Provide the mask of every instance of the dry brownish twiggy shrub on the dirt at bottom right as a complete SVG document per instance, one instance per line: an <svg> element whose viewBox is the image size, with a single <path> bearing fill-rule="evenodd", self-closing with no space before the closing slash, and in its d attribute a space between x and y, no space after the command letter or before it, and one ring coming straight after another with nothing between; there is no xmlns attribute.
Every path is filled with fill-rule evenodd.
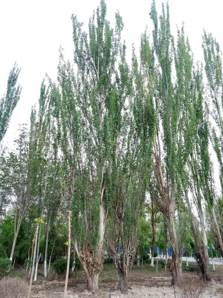
<svg viewBox="0 0 223 298"><path fill-rule="evenodd" d="M206 289L206 284L196 277L180 279L178 283L180 298L201 298Z"/></svg>

